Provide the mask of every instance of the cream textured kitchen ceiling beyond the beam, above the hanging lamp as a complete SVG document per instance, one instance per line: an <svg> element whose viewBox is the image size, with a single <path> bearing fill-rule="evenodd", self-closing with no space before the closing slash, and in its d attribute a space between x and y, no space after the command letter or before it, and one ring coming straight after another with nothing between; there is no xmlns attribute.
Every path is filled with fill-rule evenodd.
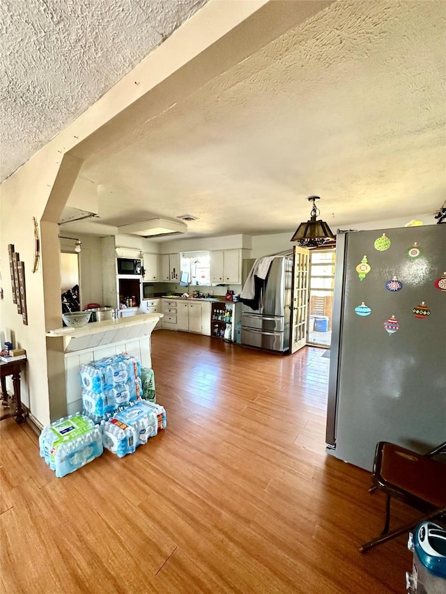
<svg viewBox="0 0 446 594"><path fill-rule="evenodd" d="M84 164L100 222L199 217L190 236L279 233L320 195L336 228L445 199L442 2L343 1Z"/></svg>

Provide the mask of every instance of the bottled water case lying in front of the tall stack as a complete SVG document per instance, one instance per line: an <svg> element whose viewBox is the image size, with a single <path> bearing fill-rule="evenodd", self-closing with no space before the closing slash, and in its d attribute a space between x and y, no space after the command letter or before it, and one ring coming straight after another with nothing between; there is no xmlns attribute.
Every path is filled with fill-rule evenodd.
<svg viewBox="0 0 446 594"><path fill-rule="evenodd" d="M132 453L127 448L137 448L141 444L146 444L149 437L154 437L158 432L157 414L151 406L151 402L139 400L121 412L114 414L113 418L102 424L102 440L104 447L114 453L118 453L118 447L121 445L121 455ZM134 433L132 445L129 445L130 428ZM127 443L126 437L127 436ZM119 455L119 454L118 454Z"/></svg>

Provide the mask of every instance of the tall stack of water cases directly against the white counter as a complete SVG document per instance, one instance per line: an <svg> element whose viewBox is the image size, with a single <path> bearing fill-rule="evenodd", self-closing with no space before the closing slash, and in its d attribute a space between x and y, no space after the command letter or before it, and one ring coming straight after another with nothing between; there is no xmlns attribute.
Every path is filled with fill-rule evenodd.
<svg viewBox="0 0 446 594"><path fill-rule="evenodd" d="M95 423L141 397L141 364L121 353L83 365L80 370L84 414Z"/></svg>

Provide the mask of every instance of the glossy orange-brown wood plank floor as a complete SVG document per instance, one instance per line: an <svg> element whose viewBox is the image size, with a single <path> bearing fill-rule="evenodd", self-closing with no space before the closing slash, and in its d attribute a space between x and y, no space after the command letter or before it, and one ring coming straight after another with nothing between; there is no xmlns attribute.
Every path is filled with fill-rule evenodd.
<svg viewBox="0 0 446 594"><path fill-rule="evenodd" d="M156 331L167 429L64 478L29 426L3 421L2 592L404 592L405 537L357 551L380 531L384 499L367 492L369 473L325 455L322 354Z"/></svg>

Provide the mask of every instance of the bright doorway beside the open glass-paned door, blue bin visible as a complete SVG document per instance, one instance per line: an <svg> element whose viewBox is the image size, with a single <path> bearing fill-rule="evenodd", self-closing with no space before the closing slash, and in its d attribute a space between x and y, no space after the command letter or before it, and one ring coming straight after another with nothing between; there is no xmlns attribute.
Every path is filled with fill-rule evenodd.
<svg viewBox="0 0 446 594"><path fill-rule="evenodd" d="M307 344L312 346L331 346L335 262L334 249L311 252Z"/></svg>

